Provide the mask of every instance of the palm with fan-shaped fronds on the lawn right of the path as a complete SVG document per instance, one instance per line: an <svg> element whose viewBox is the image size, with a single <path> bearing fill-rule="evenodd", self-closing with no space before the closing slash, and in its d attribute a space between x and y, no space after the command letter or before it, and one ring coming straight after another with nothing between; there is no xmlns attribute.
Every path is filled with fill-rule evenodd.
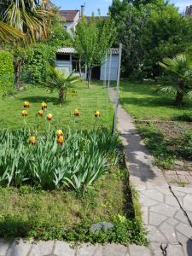
<svg viewBox="0 0 192 256"><path fill-rule="evenodd" d="M180 54L175 57L165 58L159 63L168 72L176 76L177 84L164 86L161 88L163 92L174 93L176 95L176 104L181 107L183 104L183 96L186 94L192 98L192 88L190 81L192 80L192 61L188 55Z"/></svg>

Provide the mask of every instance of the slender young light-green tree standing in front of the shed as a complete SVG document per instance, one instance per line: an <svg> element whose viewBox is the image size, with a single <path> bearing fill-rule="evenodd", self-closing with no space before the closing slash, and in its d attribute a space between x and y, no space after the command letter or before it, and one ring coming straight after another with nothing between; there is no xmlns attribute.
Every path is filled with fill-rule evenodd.
<svg viewBox="0 0 192 256"><path fill-rule="evenodd" d="M88 68L88 87L90 87L92 68L100 66L113 44L115 27L111 19L102 20L92 16L79 23L74 32L74 48Z"/></svg>

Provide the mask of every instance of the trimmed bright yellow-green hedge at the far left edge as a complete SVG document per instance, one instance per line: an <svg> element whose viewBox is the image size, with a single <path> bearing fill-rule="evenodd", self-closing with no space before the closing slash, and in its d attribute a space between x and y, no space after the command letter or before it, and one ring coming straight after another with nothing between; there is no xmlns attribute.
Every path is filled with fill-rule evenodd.
<svg viewBox="0 0 192 256"><path fill-rule="evenodd" d="M8 51L0 50L0 95L7 95L13 86L14 57Z"/></svg>

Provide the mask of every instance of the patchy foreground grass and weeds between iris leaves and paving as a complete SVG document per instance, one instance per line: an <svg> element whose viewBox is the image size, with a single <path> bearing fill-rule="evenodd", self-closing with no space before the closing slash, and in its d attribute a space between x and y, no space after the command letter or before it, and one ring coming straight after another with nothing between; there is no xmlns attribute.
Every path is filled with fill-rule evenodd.
<svg viewBox="0 0 192 256"><path fill-rule="evenodd" d="M29 186L1 187L0 237L147 244L141 219L131 217L134 209L126 172L113 167L85 194ZM112 222L113 229L91 232L91 224L101 221Z"/></svg>

